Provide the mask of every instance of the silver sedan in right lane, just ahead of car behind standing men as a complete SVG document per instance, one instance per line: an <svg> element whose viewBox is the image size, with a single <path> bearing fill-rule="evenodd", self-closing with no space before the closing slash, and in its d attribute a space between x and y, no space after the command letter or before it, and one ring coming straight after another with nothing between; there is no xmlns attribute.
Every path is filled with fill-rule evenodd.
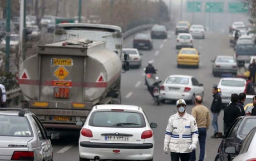
<svg viewBox="0 0 256 161"><path fill-rule="evenodd" d="M233 56L217 56L213 62L213 76L221 74L237 75L237 62Z"/></svg>

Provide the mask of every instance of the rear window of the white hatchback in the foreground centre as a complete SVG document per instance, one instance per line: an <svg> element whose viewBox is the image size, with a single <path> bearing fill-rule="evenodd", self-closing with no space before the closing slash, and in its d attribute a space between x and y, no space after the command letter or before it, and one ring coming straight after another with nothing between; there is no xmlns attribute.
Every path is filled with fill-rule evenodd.
<svg viewBox="0 0 256 161"><path fill-rule="evenodd" d="M124 111L93 112L89 125L93 127L142 128L146 126L142 113Z"/></svg>

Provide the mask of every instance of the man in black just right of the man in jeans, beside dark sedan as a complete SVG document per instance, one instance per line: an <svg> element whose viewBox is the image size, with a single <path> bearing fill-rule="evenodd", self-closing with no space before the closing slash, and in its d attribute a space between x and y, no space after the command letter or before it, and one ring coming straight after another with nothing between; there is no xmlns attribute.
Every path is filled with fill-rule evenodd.
<svg viewBox="0 0 256 161"><path fill-rule="evenodd" d="M237 105L238 94L231 94L231 103L224 108L224 135L227 133L230 125L234 122L235 119L242 115L240 107Z"/></svg>

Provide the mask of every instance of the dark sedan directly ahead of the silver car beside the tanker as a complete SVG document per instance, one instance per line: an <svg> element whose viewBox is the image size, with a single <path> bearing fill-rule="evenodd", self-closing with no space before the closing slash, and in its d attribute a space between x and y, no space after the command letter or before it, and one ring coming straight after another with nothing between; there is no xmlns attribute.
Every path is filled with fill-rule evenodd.
<svg viewBox="0 0 256 161"><path fill-rule="evenodd" d="M137 49L149 49L153 48L152 39L150 34L147 33L138 33L134 38L134 48Z"/></svg>

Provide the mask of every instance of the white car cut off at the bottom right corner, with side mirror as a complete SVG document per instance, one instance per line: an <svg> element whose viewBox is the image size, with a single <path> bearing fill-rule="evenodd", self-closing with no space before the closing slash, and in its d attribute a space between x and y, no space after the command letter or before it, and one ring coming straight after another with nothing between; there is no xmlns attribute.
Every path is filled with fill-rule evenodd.
<svg viewBox="0 0 256 161"><path fill-rule="evenodd" d="M243 140L243 143L239 149L239 152L237 151L235 146L227 147L225 149L225 153L231 154L231 155L237 155L233 159L233 161L255 161L256 160L256 127L254 127L250 132L248 133L247 137Z"/></svg>

